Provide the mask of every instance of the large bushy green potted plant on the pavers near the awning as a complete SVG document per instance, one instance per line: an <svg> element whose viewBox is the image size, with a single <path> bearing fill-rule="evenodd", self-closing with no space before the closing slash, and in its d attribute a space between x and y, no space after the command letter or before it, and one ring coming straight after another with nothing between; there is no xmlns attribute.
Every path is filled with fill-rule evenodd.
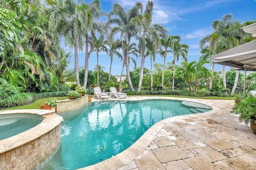
<svg viewBox="0 0 256 170"><path fill-rule="evenodd" d="M256 98L249 96L235 104L231 111L234 114L240 114L239 121L249 123L254 134L256 134Z"/></svg>

